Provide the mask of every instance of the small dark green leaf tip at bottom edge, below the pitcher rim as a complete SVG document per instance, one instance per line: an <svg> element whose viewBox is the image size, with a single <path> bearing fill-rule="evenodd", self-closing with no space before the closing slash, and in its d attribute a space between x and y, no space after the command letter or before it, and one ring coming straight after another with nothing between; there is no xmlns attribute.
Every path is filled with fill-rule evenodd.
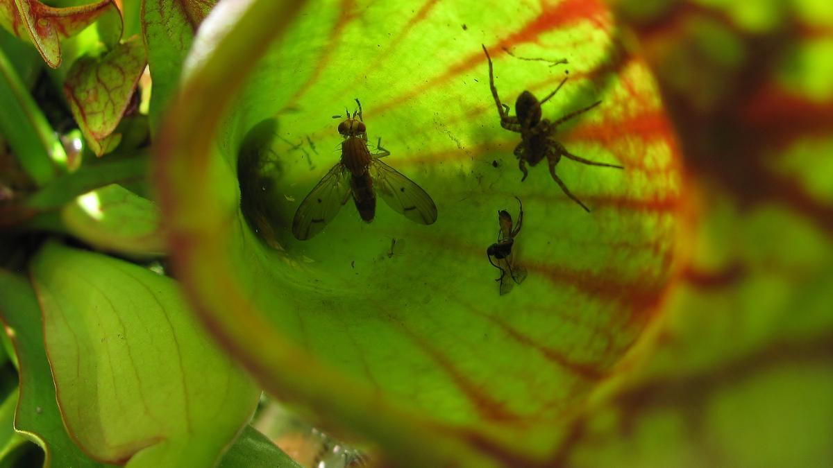
<svg viewBox="0 0 833 468"><path fill-rule="evenodd" d="M252 426L243 428L234 445L222 457L219 468L301 468L267 436Z"/></svg>

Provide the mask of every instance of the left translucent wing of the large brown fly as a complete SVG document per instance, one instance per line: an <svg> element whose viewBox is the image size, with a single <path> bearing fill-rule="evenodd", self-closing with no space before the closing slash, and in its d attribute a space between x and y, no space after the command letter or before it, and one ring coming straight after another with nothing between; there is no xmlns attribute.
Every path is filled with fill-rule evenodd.
<svg viewBox="0 0 833 468"><path fill-rule="evenodd" d="M327 223L336 217L342 205L347 203L350 193L347 174L347 170L339 162L301 202L292 220L292 235L299 241L306 241L321 232Z"/></svg>

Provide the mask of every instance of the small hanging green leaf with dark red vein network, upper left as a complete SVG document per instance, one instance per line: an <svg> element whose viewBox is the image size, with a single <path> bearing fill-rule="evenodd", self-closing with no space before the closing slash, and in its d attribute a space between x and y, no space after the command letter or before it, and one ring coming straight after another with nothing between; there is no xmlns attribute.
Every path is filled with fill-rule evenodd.
<svg viewBox="0 0 833 468"><path fill-rule="evenodd" d="M134 36L100 57L72 64L63 91L78 126L97 156L111 152L122 136L113 133L147 64L145 45Z"/></svg>

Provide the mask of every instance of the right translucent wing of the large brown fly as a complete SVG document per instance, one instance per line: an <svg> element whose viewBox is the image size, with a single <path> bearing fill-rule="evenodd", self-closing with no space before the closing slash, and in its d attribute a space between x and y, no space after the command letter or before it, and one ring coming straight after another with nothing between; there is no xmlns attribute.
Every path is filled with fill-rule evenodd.
<svg viewBox="0 0 833 468"><path fill-rule="evenodd" d="M378 158L372 160L370 167L376 192L388 207L412 222L432 224L436 221L436 205L422 187Z"/></svg>

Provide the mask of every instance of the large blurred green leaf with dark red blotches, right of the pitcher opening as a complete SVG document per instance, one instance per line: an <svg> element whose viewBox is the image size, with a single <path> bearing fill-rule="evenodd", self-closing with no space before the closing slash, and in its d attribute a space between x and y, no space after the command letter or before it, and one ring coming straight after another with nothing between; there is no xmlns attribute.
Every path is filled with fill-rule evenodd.
<svg viewBox="0 0 833 468"><path fill-rule="evenodd" d="M833 460L833 3L615 2L679 132L696 217L658 321L560 466Z"/></svg>

